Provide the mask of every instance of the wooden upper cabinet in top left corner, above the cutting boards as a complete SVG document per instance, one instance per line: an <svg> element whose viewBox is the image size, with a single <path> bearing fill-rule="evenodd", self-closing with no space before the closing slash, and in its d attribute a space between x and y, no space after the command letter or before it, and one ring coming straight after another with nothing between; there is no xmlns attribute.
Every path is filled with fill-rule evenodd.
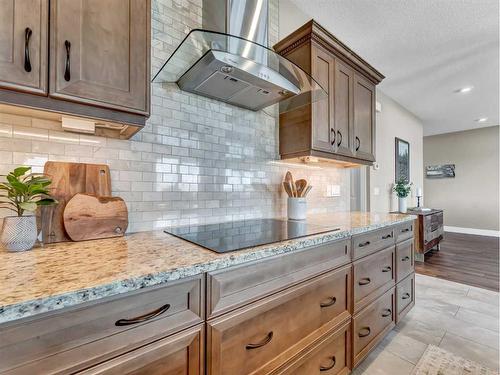
<svg viewBox="0 0 500 375"><path fill-rule="evenodd" d="M87 117L98 135L130 137L149 115L150 18L150 0L2 0L2 111Z"/></svg>

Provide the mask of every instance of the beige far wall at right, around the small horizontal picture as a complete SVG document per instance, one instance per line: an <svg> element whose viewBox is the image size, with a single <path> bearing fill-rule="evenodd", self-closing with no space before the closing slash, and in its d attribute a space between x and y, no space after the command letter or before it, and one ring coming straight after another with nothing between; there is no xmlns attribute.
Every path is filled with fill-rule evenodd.
<svg viewBox="0 0 500 375"><path fill-rule="evenodd" d="M424 137L424 165L455 164L455 178L425 179L425 204L446 226L499 230L499 127Z"/></svg>

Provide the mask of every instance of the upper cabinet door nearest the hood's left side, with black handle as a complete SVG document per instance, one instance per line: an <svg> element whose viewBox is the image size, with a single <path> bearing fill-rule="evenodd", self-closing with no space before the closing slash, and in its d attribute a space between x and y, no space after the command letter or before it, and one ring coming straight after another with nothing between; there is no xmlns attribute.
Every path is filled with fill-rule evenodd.
<svg viewBox="0 0 500 375"><path fill-rule="evenodd" d="M52 0L50 95L149 112L149 0Z"/></svg>

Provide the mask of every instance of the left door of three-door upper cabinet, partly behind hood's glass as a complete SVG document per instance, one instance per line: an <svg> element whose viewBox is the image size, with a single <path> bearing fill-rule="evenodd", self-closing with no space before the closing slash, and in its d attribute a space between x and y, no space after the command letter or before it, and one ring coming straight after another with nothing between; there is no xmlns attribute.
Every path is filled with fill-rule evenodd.
<svg viewBox="0 0 500 375"><path fill-rule="evenodd" d="M333 128L333 57L316 45L311 46L312 76L328 90L328 97L312 104L312 148L334 152L335 129Z"/></svg>

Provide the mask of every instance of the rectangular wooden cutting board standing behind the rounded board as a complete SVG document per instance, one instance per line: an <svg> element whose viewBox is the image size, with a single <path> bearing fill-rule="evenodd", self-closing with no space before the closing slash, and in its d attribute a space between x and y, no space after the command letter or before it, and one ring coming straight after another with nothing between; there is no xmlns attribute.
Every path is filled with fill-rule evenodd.
<svg viewBox="0 0 500 375"><path fill-rule="evenodd" d="M70 241L64 229L63 212L66 203L77 193L111 195L109 167L104 164L45 163L44 173L50 176L50 189L59 201L56 206L43 207L41 229L44 243Z"/></svg>

